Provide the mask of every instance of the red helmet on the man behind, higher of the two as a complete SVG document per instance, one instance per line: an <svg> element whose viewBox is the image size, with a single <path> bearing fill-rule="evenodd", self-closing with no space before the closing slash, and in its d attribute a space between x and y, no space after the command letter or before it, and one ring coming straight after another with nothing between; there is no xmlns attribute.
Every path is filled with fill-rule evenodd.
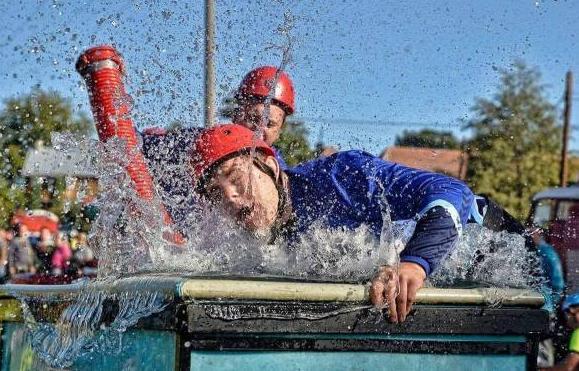
<svg viewBox="0 0 579 371"><path fill-rule="evenodd" d="M295 111L294 86L289 75L277 67L263 66L250 71L241 81L235 97L240 101L250 97L267 98L278 71L279 76L271 98L281 105L287 115L291 115Z"/></svg>

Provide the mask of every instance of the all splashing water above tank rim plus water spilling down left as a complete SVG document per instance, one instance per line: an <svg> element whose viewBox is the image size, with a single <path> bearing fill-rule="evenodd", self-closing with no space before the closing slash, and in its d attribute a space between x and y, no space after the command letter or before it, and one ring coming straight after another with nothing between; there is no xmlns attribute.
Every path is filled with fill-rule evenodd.
<svg viewBox="0 0 579 371"><path fill-rule="evenodd" d="M103 280L101 277L111 282L136 273L169 272L361 282L371 278L379 265L398 264L398 255L416 225L413 220L392 222L384 203L379 240L364 225L354 230L329 230L316 222L291 246L269 245L205 207L193 192L175 196L159 189L164 202L188 208L177 225L188 240L177 247L163 239L160 201L143 201L132 190L124 171L127 157L122 155L123 143L103 144L70 135L56 135L53 143L63 150L80 151L85 159L82 166L98 174L102 187L97 200L100 213L89 235L99 257L100 277L95 285ZM186 176L182 168L178 171ZM537 288L539 278L529 276L529 261L533 259L536 257L525 249L522 237L468 225L459 246L431 276L430 284L479 282L499 288ZM496 305L501 295L497 290ZM28 316L32 345L50 365L67 366L87 352L114 349L127 327L165 307L168 299L163 299L167 298L152 291L113 293L91 290L87 285L56 325L37 323ZM110 325L102 327L103 308L109 300L118 301L119 311Z"/></svg>

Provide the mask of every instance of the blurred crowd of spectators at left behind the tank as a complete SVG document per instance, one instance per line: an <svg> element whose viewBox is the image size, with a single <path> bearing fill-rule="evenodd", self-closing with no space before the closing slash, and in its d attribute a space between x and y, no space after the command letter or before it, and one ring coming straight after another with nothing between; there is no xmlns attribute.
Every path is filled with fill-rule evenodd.
<svg viewBox="0 0 579 371"><path fill-rule="evenodd" d="M25 224L0 229L0 280L45 277L62 282L96 275L97 262L86 233L31 232Z"/></svg>

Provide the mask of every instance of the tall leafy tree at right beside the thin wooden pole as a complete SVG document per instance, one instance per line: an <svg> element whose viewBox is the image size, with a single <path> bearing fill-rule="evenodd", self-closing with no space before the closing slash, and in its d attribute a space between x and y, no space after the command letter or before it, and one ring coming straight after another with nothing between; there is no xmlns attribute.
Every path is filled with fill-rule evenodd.
<svg viewBox="0 0 579 371"><path fill-rule="evenodd" d="M521 220L532 195L556 185L559 172L561 130L540 79L522 62L502 70L498 92L477 99L465 125L473 131L467 173L472 187Z"/></svg>

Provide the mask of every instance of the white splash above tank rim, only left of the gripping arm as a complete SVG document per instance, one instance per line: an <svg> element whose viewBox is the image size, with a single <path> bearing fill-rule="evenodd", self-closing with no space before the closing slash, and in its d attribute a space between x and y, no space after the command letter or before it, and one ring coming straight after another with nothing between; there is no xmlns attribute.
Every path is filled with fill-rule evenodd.
<svg viewBox="0 0 579 371"><path fill-rule="evenodd" d="M99 257L99 274L107 277L177 272L360 281L371 277L379 264L396 264L396 256L415 224L392 223L385 205L380 240L364 225L355 230L328 230L320 223L291 246L283 241L268 245L230 218L205 207L192 192L172 199L160 189L161 198L169 204L193 206L178 225L188 241L176 247L163 239L160 202L140 200L131 190L123 170L125 157L117 155L122 153L120 143L92 143L67 135L55 136L53 141L63 148L77 146L99 174L102 192L97 206L101 212L89 242Z"/></svg>

